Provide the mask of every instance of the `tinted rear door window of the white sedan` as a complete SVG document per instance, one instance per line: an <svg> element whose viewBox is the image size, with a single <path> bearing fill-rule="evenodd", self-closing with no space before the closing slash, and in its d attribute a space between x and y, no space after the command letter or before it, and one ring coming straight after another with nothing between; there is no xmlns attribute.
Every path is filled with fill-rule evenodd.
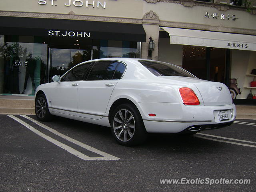
<svg viewBox="0 0 256 192"><path fill-rule="evenodd" d="M95 62L92 66L87 80L110 80L116 70L119 62L116 61L100 61Z"/></svg>

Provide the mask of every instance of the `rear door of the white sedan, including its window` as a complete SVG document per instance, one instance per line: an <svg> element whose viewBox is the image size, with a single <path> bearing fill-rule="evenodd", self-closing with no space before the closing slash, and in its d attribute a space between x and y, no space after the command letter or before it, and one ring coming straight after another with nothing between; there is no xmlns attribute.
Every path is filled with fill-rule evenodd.
<svg viewBox="0 0 256 192"><path fill-rule="evenodd" d="M78 111L83 117L100 119L106 112L108 101L126 65L117 61L95 62L78 88Z"/></svg>

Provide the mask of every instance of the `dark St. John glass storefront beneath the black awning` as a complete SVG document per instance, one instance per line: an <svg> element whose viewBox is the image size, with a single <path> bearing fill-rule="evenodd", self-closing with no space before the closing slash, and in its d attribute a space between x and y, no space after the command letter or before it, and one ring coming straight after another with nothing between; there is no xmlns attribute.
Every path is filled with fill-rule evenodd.
<svg viewBox="0 0 256 192"><path fill-rule="evenodd" d="M34 95L73 66L96 58L140 57L140 42L0 35L0 94Z"/></svg>

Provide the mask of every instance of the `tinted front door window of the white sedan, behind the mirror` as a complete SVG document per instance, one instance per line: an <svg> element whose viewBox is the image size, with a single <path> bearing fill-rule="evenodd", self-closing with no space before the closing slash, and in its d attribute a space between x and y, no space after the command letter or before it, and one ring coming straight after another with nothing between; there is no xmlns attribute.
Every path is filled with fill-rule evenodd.
<svg viewBox="0 0 256 192"><path fill-rule="evenodd" d="M70 70L61 81L82 81L91 63L79 65Z"/></svg>

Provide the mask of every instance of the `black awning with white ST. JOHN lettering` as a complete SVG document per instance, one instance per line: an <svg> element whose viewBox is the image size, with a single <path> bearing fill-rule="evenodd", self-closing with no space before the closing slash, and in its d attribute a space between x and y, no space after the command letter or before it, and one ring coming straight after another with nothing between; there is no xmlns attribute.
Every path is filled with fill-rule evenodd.
<svg viewBox="0 0 256 192"><path fill-rule="evenodd" d="M0 33L146 42L142 24L0 16Z"/></svg>

